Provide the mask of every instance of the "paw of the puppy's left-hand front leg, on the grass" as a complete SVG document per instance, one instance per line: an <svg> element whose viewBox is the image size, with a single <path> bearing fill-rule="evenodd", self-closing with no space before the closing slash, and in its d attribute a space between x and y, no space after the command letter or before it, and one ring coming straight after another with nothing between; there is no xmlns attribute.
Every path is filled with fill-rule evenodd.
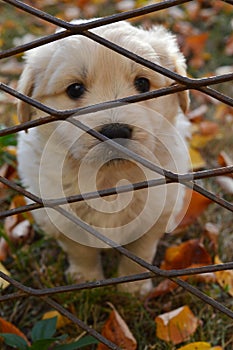
<svg viewBox="0 0 233 350"><path fill-rule="evenodd" d="M93 269L92 271L82 270L76 265L70 265L66 270L66 276L72 278L76 283L84 283L87 281L98 281L104 279L103 272L98 269Z"/></svg>

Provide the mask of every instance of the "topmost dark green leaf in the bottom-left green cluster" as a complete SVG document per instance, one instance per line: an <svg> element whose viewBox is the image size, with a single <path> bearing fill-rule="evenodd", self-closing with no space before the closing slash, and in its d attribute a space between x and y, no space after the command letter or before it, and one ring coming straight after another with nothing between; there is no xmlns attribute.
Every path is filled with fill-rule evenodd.
<svg viewBox="0 0 233 350"><path fill-rule="evenodd" d="M39 321L32 328L31 337L33 342L42 339L50 339L56 332L57 317Z"/></svg>

